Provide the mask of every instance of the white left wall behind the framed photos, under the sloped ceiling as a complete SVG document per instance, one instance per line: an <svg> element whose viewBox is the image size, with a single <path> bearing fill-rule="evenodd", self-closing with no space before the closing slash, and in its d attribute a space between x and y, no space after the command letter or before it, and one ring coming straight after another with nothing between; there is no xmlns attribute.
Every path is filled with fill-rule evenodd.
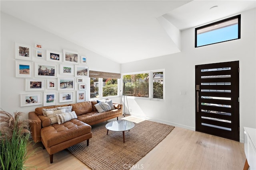
<svg viewBox="0 0 256 170"><path fill-rule="evenodd" d="M32 45L34 47L35 43L40 43L43 46L44 54L46 50L63 52L63 49L69 51L79 52L80 55L86 56L88 63L87 66L89 70L96 71L105 71L105 72L115 72L120 73L120 64L113 62L101 55L98 55L92 51L89 51L79 45L76 45L70 41L67 41L61 37L58 37L52 33L44 31L39 27L35 27L26 23L26 21L19 20L8 14L1 13L1 91L0 91L0 107L9 113L14 111L24 112L24 117L27 118L29 111L34 111L36 107L41 107L42 105L20 107L20 94L31 94L38 92L25 91L25 78L16 78L15 77L15 42L21 43L24 45ZM32 48L32 53L34 54L34 48ZM33 63L49 63L46 59L38 59L33 57ZM99 62L100 61L100 62ZM52 63L52 61L51 61ZM54 63L54 62L53 62ZM59 64L57 64L58 75L59 73ZM34 71L34 70L33 70ZM63 76L62 76L63 77ZM36 78L39 79L39 78ZM57 79L56 79L57 80ZM86 78L86 100L90 96L90 81L89 78ZM68 103L58 103L57 104L69 104L76 103L76 90L78 86L75 85L74 90L74 100L73 102ZM56 90L45 90L45 92L52 92ZM42 93L43 100L43 91ZM62 91L63 92L63 91ZM58 93L57 93L58 97ZM58 98L57 98L58 99ZM113 100L114 101L114 100ZM115 102L120 102L119 99L116 99Z"/></svg>

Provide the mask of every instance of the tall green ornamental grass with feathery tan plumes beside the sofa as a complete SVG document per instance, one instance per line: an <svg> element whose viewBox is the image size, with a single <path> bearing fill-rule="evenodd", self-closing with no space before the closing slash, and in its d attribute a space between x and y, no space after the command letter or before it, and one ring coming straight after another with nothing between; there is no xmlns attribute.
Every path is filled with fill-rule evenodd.
<svg viewBox="0 0 256 170"><path fill-rule="evenodd" d="M21 170L29 169L25 162L29 156L37 150L28 154L30 144L29 123L30 119L20 120L22 112L10 114L0 111L0 169Z"/></svg>

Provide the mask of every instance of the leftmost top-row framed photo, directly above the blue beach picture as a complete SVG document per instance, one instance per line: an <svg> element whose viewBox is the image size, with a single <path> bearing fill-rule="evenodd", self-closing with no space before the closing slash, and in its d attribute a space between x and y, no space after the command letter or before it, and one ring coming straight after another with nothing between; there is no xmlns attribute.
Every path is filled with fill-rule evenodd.
<svg viewBox="0 0 256 170"><path fill-rule="evenodd" d="M31 45L15 43L15 59L32 60Z"/></svg>

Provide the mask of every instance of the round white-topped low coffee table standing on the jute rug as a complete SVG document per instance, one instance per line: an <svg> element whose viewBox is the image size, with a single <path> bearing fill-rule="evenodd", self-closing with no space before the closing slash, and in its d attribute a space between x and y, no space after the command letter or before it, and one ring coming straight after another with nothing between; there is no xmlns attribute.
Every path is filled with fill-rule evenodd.
<svg viewBox="0 0 256 170"><path fill-rule="evenodd" d="M129 131L133 127L134 127L134 123L132 121L127 121L127 120L111 121L106 124L106 128L110 131L122 131L124 141L125 141L124 131ZM107 135L108 135L108 131L107 131Z"/></svg>

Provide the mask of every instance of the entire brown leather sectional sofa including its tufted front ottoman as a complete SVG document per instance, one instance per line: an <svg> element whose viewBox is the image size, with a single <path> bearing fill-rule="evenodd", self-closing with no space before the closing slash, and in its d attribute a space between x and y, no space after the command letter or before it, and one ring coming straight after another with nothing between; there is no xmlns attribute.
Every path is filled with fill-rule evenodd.
<svg viewBox="0 0 256 170"><path fill-rule="evenodd" d="M122 104L113 103L115 109L99 113L94 106L97 101L87 101L76 104L58 106L37 107L35 111L28 113L28 118L36 120L37 123L30 123L32 139L35 143L42 141L47 152L50 154L50 163L53 162L53 154L92 138L91 126L122 115ZM51 119L44 116L44 109L72 106L76 112L77 119L66 121L62 124L51 124Z"/></svg>

